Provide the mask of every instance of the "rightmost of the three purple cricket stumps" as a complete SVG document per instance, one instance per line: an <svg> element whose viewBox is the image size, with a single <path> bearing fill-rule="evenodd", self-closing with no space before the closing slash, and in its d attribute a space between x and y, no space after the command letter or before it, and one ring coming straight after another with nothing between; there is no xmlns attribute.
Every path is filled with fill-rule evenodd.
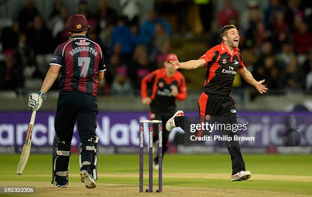
<svg viewBox="0 0 312 197"><path fill-rule="evenodd" d="M163 191L163 123L158 123L158 192Z"/></svg>

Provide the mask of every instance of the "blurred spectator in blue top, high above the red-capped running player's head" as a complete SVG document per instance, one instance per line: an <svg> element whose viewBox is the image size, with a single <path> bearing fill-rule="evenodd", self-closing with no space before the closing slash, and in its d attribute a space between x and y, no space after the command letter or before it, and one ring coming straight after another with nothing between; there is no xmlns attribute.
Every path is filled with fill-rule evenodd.
<svg viewBox="0 0 312 197"><path fill-rule="evenodd" d="M148 12L147 20L143 22L141 26L141 37L144 44L151 44L153 36L155 34L155 24L157 23L163 24L166 30L166 34L171 35L170 24L166 20L158 17L154 10L150 10Z"/></svg>

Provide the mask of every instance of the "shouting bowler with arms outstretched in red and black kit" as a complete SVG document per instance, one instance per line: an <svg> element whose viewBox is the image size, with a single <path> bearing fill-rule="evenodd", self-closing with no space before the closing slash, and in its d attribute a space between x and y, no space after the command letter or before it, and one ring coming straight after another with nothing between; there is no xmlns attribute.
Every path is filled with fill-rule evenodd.
<svg viewBox="0 0 312 197"><path fill-rule="evenodd" d="M236 104L231 96L234 77L239 72L259 93L268 90L262 83L265 80L256 81L246 69L243 58L238 49L240 36L235 25L225 25L220 36L222 43L207 50L198 60L179 62L177 59L170 61L173 69L196 69L206 67L203 93L199 97L198 107L200 117L226 117L227 123L236 124ZM183 111L177 111L166 123L166 129L171 131L174 127L181 127L184 131L190 131L190 121L185 118ZM223 131L229 136L237 135L231 131ZM233 138L233 137L232 137ZM245 171L245 162L238 142L227 144L232 161L231 181L247 180L251 177L249 171Z"/></svg>

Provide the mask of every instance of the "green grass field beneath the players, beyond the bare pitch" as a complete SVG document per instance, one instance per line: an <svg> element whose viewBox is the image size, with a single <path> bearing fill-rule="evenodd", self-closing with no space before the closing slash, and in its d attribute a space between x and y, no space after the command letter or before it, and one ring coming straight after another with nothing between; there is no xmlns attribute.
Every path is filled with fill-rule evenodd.
<svg viewBox="0 0 312 197"><path fill-rule="evenodd" d="M174 193L174 189L190 188L195 191L198 188L203 189L203 192L205 189L210 189L208 190L210 194L213 192L211 189L215 189L237 195L239 194L235 192L240 190L250 190L249 194L252 195L257 195L257 192L258 195L263 195L261 192L269 192L265 193L268 195L312 195L312 155L244 155L244 159L246 170L252 173L251 179L230 182L229 155L166 155L163 161L163 194L166 190L173 189L170 194L183 195L183 193ZM46 186L41 188L43 190L45 187L52 187L47 184L51 180L50 155L31 155L23 175L16 175L19 155L0 155L0 160L2 170L0 187L35 181L46 183ZM98 164L98 184L106 185L108 188L110 184L129 185L133 188L131 192L138 191L139 155L100 155ZM144 157L144 167L144 175L147 175L148 155ZM72 155L69 182L80 183L78 174L78 156ZM158 183L157 177L158 174L154 173L154 190ZM145 176L144 188L147 187L148 177ZM188 192L192 193L192 191ZM134 194L137 195L138 192Z"/></svg>

